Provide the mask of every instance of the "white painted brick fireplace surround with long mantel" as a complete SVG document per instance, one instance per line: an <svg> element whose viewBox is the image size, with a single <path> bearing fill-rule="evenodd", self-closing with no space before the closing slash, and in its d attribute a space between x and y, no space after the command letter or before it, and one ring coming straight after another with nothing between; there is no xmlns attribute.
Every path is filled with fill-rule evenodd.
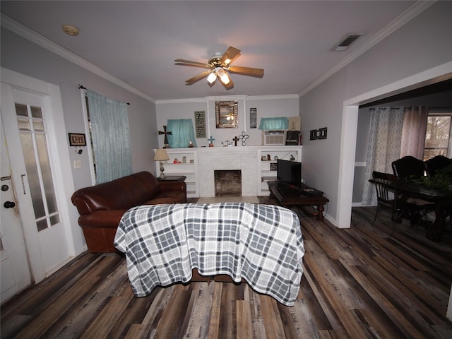
<svg viewBox="0 0 452 339"><path fill-rule="evenodd" d="M302 161L302 146L232 146L201 148L169 148L169 161L165 164L165 174L179 174L187 177L187 195L191 197L215 196L215 169L240 169L242 171L242 196L263 196L268 194L263 178L276 177L270 171L270 163L275 157ZM185 157L185 163L182 162ZM270 157L270 161L262 161ZM174 159L181 161L174 164ZM190 160L193 160L190 163ZM158 173L159 165L156 164Z"/></svg>

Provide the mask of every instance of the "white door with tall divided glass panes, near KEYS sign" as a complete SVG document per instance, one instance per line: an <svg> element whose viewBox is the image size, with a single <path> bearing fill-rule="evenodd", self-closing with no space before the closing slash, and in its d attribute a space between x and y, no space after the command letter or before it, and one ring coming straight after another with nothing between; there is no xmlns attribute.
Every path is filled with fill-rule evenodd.
<svg viewBox="0 0 452 339"><path fill-rule="evenodd" d="M61 264L61 258L69 258L68 234L58 206L61 198L53 179L49 100L49 95L1 83L1 119L35 283Z"/></svg>

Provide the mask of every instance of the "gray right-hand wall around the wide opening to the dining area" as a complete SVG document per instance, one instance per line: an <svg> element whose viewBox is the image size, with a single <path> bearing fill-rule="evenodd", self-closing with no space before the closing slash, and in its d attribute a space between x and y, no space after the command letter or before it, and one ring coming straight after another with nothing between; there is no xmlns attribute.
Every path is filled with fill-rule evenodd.
<svg viewBox="0 0 452 339"><path fill-rule="evenodd" d="M347 139L342 135L345 122L343 117L357 119L354 114L347 114L345 102L359 95L365 97L364 94L383 86L391 87L389 85L397 81L451 61L451 15L452 1L436 2L361 57L300 97L302 133L306 135L311 129L328 127L326 140L308 141L304 138L306 147L303 148L303 174L307 184L325 191L328 195L331 201L328 204L329 220L337 227L350 227L350 217L343 218L340 215L343 213L340 204L345 203L351 208L354 160L347 159L351 163L345 166L341 153L352 152L354 155L356 141L355 126L355 131L347 130L347 133L355 133L351 138L352 143L347 141L342 145L343 139ZM351 121L351 124L344 126L350 128L354 124L355 121ZM350 173L344 174L347 172L344 168L350 168ZM347 182L341 182L343 178L347 178Z"/></svg>

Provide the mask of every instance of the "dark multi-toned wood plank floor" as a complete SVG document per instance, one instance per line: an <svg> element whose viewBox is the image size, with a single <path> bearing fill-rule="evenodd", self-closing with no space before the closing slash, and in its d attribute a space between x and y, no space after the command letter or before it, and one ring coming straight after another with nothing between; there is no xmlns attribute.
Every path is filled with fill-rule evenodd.
<svg viewBox="0 0 452 339"><path fill-rule="evenodd" d="M266 198L261 199L266 202ZM83 253L1 307L1 338L452 338L452 227L354 208L352 227L297 210L304 275L294 307L248 285L191 283L136 298L117 254Z"/></svg>

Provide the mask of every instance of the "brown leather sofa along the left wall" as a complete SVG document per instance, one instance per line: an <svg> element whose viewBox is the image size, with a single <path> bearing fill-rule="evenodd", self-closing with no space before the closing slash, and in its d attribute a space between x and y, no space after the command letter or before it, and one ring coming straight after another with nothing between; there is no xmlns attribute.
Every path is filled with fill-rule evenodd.
<svg viewBox="0 0 452 339"><path fill-rule="evenodd" d="M114 234L126 210L157 203L186 203L186 184L158 182L153 174L139 172L79 189L71 201L80 214L78 225L82 227L88 251L116 252Z"/></svg>

